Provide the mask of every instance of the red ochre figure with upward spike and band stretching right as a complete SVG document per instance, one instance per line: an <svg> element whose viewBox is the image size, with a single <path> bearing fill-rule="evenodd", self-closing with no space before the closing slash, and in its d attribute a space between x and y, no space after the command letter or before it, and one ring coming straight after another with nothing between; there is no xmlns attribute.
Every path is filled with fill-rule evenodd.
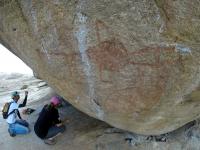
<svg viewBox="0 0 200 150"><path fill-rule="evenodd" d="M117 35L104 22L97 20L95 29L98 44L89 47L87 54L91 62L98 68L101 81L104 81L103 71L119 72L127 65L158 69L166 64L181 63L174 46L150 45L129 52L123 42L116 38ZM105 40L102 40L101 32L107 32L108 39L104 37Z"/></svg>

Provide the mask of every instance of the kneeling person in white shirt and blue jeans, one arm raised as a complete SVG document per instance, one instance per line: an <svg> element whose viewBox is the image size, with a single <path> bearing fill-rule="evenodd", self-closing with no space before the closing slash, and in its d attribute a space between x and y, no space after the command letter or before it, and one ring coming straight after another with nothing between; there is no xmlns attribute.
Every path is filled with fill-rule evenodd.
<svg viewBox="0 0 200 150"><path fill-rule="evenodd" d="M14 137L17 134L27 134L30 132L29 124L23 120L20 116L18 108L26 106L28 97L28 91L25 91L25 98L22 104L17 104L20 99L19 92L15 91L12 93L12 102L8 111L8 118L6 119L8 123L8 132L10 136Z"/></svg>

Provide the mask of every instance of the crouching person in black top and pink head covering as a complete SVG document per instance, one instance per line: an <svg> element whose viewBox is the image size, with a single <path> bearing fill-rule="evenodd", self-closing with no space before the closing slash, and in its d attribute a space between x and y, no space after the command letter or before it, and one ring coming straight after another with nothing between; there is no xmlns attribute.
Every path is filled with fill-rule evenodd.
<svg viewBox="0 0 200 150"><path fill-rule="evenodd" d="M56 144L55 137L65 131L65 126L59 119L57 109L59 104L60 100L55 96L52 97L50 104L43 107L34 125L35 134L43 139L45 144Z"/></svg>

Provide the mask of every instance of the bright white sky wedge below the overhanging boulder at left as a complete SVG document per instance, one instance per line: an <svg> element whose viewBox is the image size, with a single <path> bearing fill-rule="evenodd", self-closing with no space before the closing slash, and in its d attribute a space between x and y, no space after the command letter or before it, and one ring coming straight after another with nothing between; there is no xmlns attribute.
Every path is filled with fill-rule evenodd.
<svg viewBox="0 0 200 150"><path fill-rule="evenodd" d="M0 44L0 72L33 75L32 70L17 56Z"/></svg>

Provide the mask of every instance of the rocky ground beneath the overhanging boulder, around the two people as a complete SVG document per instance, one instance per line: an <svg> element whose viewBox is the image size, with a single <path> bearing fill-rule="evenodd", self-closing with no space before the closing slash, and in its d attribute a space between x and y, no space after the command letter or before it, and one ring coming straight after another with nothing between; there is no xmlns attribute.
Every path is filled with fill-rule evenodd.
<svg viewBox="0 0 200 150"><path fill-rule="evenodd" d="M11 74L0 74L0 107L10 99L10 93L18 90L21 100L24 91L29 91L26 108L36 109L30 115L23 115L30 123L31 133L10 137L7 124L0 117L0 149L1 150L199 150L200 121L195 120L184 127L160 136L144 136L120 129L91 118L63 101L60 115L66 122L66 132L57 137L54 146L44 144L33 131L34 123L42 106L48 103L56 93L48 85L34 77ZM21 109L23 111L24 108Z"/></svg>

